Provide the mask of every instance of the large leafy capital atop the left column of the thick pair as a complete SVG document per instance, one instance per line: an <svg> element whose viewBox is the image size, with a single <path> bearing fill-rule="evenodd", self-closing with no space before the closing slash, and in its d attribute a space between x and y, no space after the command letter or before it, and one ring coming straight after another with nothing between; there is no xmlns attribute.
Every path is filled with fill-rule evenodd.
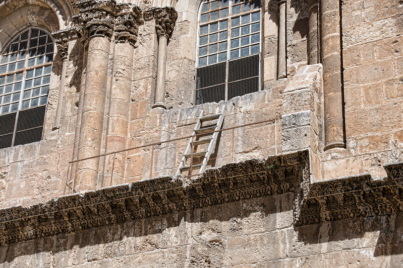
<svg viewBox="0 0 403 268"><path fill-rule="evenodd" d="M82 26L84 36L92 38L103 36L111 38L116 7L114 0L83 0L76 4L80 13L73 17L77 25Z"/></svg>

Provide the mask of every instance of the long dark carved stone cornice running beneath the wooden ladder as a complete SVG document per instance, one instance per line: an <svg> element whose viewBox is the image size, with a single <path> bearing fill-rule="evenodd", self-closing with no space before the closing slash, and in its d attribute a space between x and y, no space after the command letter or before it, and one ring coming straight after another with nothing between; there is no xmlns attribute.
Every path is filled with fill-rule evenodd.
<svg viewBox="0 0 403 268"><path fill-rule="evenodd" d="M403 163L369 174L310 184L308 151L252 159L207 169L191 181L151 178L31 207L0 210L0 244L40 239L180 211L294 193L294 225L403 211Z"/></svg>

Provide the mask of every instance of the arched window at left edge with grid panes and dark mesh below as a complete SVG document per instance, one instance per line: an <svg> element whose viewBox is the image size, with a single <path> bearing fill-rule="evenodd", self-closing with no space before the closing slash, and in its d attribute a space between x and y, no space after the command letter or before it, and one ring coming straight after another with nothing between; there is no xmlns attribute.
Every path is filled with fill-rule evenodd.
<svg viewBox="0 0 403 268"><path fill-rule="evenodd" d="M16 37L0 60L0 148L42 138L53 41L30 28Z"/></svg>

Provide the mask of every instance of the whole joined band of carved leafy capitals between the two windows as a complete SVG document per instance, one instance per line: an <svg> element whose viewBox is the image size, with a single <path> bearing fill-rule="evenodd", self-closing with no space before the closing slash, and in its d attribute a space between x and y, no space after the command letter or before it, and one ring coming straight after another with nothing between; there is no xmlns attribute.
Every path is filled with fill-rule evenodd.
<svg viewBox="0 0 403 268"><path fill-rule="evenodd" d="M73 17L76 26L52 33L62 58L67 52L69 40L81 38L84 42L95 36L135 45L139 26L144 19L155 18L156 32L172 35L178 13L172 7L150 8L142 11L134 4L117 4L115 0L83 0L77 2L79 14Z"/></svg>

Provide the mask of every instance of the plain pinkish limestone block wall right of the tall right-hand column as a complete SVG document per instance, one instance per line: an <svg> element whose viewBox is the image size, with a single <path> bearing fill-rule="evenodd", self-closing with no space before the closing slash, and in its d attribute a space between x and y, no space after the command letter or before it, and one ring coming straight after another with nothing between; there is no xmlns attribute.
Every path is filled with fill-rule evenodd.
<svg viewBox="0 0 403 268"><path fill-rule="evenodd" d="M346 149L323 153L323 177L370 172L403 160L401 1L343 1Z"/></svg>

